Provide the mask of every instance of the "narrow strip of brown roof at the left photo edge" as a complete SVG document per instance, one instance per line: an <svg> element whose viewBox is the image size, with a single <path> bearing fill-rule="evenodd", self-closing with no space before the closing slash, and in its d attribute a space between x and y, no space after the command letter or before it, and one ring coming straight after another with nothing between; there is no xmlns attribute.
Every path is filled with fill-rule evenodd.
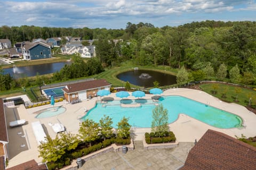
<svg viewBox="0 0 256 170"><path fill-rule="evenodd" d="M0 99L0 141L8 142L3 99Z"/></svg>

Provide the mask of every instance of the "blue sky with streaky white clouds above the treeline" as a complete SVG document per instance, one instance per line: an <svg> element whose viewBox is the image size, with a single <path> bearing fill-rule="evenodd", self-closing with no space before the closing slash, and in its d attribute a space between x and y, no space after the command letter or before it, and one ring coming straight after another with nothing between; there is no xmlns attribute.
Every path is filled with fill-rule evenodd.
<svg viewBox="0 0 256 170"><path fill-rule="evenodd" d="M125 29L127 22L175 27L191 22L256 21L254 0L0 0L0 26Z"/></svg>

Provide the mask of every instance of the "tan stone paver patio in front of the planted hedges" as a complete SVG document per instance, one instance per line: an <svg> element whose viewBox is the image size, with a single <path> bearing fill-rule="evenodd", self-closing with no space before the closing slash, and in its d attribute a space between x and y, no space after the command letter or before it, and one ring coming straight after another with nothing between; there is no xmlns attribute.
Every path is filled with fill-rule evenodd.
<svg viewBox="0 0 256 170"><path fill-rule="evenodd" d="M110 151L87 160L81 170L177 169L185 163L193 142L180 142L176 148L143 149L142 141L134 141L134 150L123 154Z"/></svg>

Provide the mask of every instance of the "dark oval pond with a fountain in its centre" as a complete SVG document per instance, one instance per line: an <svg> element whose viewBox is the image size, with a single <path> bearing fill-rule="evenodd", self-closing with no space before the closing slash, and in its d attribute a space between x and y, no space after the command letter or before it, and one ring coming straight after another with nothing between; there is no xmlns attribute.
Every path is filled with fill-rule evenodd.
<svg viewBox="0 0 256 170"><path fill-rule="evenodd" d="M175 75L152 71L152 70L132 70L117 75L122 81L129 81L131 84L145 88L154 87L154 81L159 82L159 86L168 86L176 83Z"/></svg>

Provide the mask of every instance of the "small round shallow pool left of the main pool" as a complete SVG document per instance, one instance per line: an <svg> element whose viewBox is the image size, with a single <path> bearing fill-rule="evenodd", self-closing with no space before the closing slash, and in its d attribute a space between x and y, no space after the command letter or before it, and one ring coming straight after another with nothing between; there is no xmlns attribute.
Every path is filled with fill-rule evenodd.
<svg viewBox="0 0 256 170"><path fill-rule="evenodd" d="M66 111L65 107L50 107L43 109L41 111L36 112L38 115L36 115L36 118L46 118L46 117L52 117L57 116L59 114L62 114Z"/></svg>

